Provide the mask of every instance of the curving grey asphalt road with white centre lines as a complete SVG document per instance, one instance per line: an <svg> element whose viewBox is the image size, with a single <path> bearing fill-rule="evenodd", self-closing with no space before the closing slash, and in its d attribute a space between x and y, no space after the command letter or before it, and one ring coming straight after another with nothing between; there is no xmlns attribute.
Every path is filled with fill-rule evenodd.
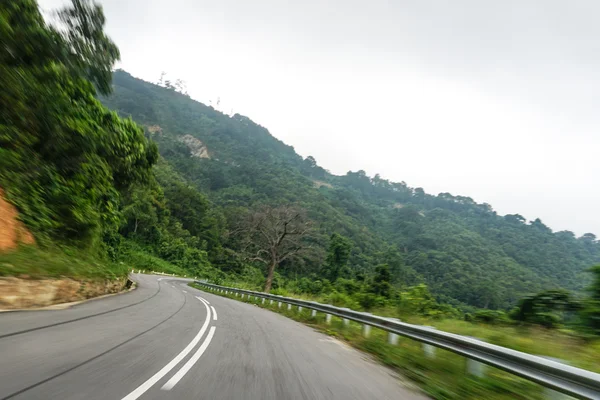
<svg viewBox="0 0 600 400"><path fill-rule="evenodd" d="M360 352L183 280L0 314L4 399L424 399Z"/></svg>

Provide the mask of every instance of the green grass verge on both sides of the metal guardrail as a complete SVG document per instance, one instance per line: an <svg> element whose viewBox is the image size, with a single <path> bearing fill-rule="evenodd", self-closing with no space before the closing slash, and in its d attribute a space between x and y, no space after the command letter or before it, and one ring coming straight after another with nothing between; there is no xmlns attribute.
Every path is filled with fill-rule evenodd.
<svg viewBox="0 0 600 400"><path fill-rule="evenodd" d="M205 290L193 283L190 283L190 286ZM270 304L268 300L263 304L260 299L249 300L247 296L241 299L233 294L211 293L267 308L340 339L373 355L376 360L410 379L434 399L542 400L548 398L546 389L542 386L496 368L486 366L483 378L468 374L467 359L452 352L435 349L435 356L428 357L421 343L403 337L399 338L398 345L388 344L387 332L377 328L372 328L370 336L365 338L362 335L362 325L353 321L344 325L340 318L332 317L331 324L327 324L322 313L312 317L310 310L303 309L302 312L298 312L297 307L288 310L287 304L282 304L279 308L277 302ZM598 342L584 342L569 334L538 328L485 326L459 320L432 321L414 318L410 322L478 337L490 343L531 354L567 359L570 360L571 365L596 372L600 370L597 362L600 357Z"/></svg>

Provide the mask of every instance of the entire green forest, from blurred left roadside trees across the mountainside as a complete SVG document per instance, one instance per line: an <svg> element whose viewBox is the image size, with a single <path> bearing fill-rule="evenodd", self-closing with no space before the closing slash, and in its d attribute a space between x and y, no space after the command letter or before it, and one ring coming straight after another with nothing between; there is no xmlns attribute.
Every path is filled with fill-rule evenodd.
<svg viewBox="0 0 600 400"><path fill-rule="evenodd" d="M119 52L101 8L76 0L59 15L61 30L35 1L0 9L0 187L40 246L256 286L272 266L273 290L348 296L363 309L403 296L422 312L509 309L591 284L593 234L364 171L333 175L181 84L113 73ZM276 214L301 216L306 230L264 260L252 238ZM266 227L277 235L280 224ZM528 299L523 320L541 304Z"/></svg>

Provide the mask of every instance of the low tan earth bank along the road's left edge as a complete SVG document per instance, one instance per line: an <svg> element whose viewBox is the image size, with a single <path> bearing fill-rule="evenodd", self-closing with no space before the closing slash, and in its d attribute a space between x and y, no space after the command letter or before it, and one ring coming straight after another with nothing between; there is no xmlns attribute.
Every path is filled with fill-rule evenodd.
<svg viewBox="0 0 600 400"><path fill-rule="evenodd" d="M0 310L46 307L122 291L127 278L105 282L0 278Z"/></svg>

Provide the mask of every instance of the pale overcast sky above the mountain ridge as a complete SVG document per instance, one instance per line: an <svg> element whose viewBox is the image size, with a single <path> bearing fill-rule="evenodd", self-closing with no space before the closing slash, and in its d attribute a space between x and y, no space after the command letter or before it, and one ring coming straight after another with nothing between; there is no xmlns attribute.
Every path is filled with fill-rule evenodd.
<svg viewBox="0 0 600 400"><path fill-rule="evenodd" d="M220 97L333 173L600 234L595 0L100 3L121 68Z"/></svg>

